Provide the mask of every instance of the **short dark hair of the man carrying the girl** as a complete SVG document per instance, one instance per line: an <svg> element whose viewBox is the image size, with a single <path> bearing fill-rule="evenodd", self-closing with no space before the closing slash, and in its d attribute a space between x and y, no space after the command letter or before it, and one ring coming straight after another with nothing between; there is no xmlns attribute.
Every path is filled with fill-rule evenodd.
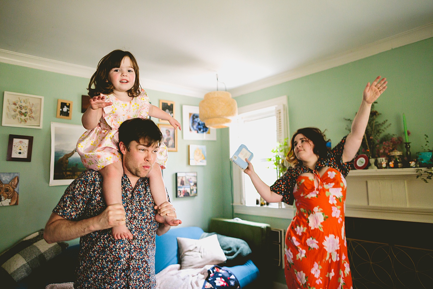
<svg viewBox="0 0 433 289"><path fill-rule="evenodd" d="M119 127L119 143L123 142L129 150L129 143L144 141L146 146L162 143L162 133L158 126L150 119L132 118L125 120ZM140 142L141 141L141 142Z"/></svg>

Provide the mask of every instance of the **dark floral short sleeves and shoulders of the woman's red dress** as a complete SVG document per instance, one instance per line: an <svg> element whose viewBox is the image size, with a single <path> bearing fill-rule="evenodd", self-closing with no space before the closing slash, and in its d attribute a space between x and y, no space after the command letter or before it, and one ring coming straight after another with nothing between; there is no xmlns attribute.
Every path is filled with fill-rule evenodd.
<svg viewBox="0 0 433 289"><path fill-rule="evenodd" d="M342 162L341 157L343 156L344 144L346 143L346 137L343 139L330 151L328 151L325 158L320 158L317 161L315 171L320 170L324 166L337 169L343 174L344 177L347 176L349 170L353 169L353 160L349 162ZM289 167L287 172L278 179L273 185L271 185L271 191L283 196L283 202L289 205L293 205L293 188L296 185L296 180L299 175L304 172L313 173L313 170L298 164L296 167Z"/></svg>

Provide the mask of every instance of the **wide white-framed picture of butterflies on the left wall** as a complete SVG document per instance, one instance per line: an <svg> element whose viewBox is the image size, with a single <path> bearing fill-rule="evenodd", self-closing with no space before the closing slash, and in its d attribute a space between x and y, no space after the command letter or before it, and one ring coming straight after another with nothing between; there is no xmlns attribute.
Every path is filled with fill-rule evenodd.
<svg viewBox="0 0 433 289"><path fill-rule="evenodd" d="M5 91L3 94L3 127L42 129L44 97Z"/></svg>

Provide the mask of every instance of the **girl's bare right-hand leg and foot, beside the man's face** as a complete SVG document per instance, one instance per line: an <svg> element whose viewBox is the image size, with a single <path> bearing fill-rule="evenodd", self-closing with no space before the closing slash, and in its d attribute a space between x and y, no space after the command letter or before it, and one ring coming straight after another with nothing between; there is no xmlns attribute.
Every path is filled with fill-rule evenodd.
<svg viewBox="0 0 433 289"><path fill-rule="evenodd" d="M162 179L161 167L158 165L158 163L155 163L155 166L153 166L153 169L147 176L149 178L150 193L152 194L155 204L159 206L162 203L168 201L164 179ZM170 226L177 226L181 223L180 220L168 215L162 216L162 218L164 218L164 223Z"/></svg>

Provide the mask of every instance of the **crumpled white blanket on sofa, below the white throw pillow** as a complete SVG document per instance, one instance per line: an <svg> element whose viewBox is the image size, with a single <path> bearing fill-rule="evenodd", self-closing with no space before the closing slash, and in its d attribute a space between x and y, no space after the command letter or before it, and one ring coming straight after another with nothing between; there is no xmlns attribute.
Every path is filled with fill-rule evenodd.
<svg viewBox="0 0 433 289"><path fill-rule="evenodd" d="M201 289L212 266L182 270L180 264L167 266L156 274L156 289Z"/></svg>

